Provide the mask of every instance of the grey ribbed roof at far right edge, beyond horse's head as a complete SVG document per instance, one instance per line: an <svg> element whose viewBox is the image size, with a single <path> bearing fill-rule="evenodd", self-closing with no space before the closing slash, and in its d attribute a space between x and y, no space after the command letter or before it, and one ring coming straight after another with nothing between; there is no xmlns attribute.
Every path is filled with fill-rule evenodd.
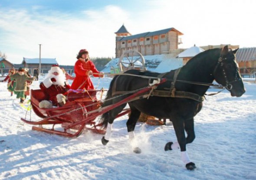
<svg viewBox="0 0 256 180"><path fill-rule="evenodd" d="M255 61L256 60L256 47L254 48L240 48L236 52L236 61Z"/></svg>

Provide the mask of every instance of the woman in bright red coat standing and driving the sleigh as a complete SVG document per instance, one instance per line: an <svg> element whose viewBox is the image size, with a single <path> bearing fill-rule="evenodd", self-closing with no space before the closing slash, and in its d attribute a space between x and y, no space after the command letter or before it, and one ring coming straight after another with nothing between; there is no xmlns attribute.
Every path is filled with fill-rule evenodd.
<svg viewBox="0 0 256 180"><path fill-rule="evenodd" d="M90 75L94 77L104 77L103 72L98 72L93 62L89 59L89 53L86 49L81 49L75 62L75 79L71 85L71 89L94 89ZM93 74L97 73L97 74Z"/></svg>

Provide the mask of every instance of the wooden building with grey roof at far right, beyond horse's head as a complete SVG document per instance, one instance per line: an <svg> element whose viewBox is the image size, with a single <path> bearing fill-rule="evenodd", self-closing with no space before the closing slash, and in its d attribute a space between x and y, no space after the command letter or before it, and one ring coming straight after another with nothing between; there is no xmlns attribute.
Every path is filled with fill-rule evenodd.
<svg viewBox="0 0 256 180"><path fill-rule="evenodd" d="M241 75L256 74L256 47L240 48L236 52L236 61Z"/></svg>

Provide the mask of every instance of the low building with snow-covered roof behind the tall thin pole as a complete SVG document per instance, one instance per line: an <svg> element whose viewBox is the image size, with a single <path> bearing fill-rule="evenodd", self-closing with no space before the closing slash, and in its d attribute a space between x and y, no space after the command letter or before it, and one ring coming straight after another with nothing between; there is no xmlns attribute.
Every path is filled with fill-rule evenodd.
<svg viewBox="0 0 256 180"><path fill-rule="evenodd" d="M39 58L24 58L21 63L24 65L25 68L28 68L30 72L33 72L33 69L39 68ZM47 73L53 64L58 64L56 58L41 58L41 72L40 73Z"/></svg>

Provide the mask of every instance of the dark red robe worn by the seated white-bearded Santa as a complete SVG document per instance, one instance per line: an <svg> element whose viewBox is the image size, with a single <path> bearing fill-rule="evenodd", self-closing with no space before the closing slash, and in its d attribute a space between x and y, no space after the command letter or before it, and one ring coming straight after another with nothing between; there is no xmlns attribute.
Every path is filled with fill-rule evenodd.
<svg viewBox="0 0 256 180"><path fill-rule="evenodd" d="M46 88L47 85L41 82L39 87L45 93L45 95L48 96L46 100L52 101L53 105L57 106L58 102L56 95L68 92L70 85L65 85L64 87L62 87L61 85L52 84L50 87Z"/></svg>

